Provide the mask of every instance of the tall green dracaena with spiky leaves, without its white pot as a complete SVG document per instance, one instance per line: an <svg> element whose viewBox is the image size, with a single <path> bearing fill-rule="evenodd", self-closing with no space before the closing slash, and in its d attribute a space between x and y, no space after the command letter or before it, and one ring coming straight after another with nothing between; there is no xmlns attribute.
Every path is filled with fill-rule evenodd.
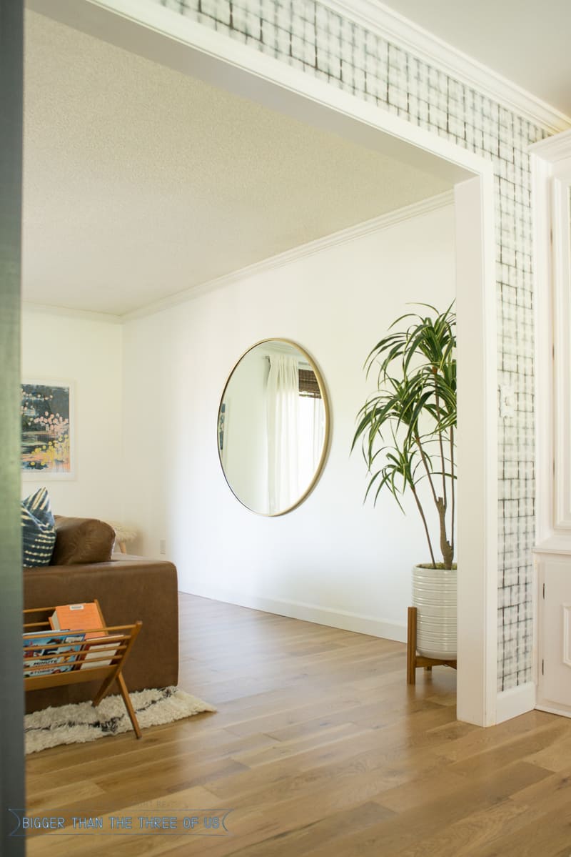
<svg viewBox="0 0 571 857"><path fill-rule="evenodd" d="M456 317L454 304L442 313L430 304L417 306L430 312L401 315L366 359L367 378L376 370L377 391L357 415L351 449L361 442L369 474L365 497L373 495L376 502L387 489L402 510L401 495L410 491L422 518L431 566L437 567L432 519L439 527L442 567L452 568ZM395 330L401 323L404 329ZM427 492L419 492L422 482ZM436 515L428 513L431 504Z"/></svg>

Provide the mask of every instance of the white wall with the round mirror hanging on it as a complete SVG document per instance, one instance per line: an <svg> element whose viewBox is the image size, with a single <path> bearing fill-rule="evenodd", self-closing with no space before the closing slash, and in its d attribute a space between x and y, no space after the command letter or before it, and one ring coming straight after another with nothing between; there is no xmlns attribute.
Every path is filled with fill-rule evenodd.
<svg viewBox="0 0 571 857"><path fill-rule="evenodd" d="M407 302L447 306L454 281L447 207L129 322L125 515L140 525L135 549L156 555L166 539L181 590L404 638L410 567L427 560L417 512L409 504L405 518L390 496L363 506L366 469L349 448L372 392L367 353ZM318 363L332 432L308 499L263 518L224 481L217 409L238 357L272 337Z"/></svg>

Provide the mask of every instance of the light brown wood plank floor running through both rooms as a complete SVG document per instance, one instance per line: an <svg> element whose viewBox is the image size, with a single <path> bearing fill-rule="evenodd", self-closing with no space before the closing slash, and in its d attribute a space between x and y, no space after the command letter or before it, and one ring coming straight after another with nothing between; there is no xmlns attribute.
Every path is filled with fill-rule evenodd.
<svg viewBox="0 0 571 857"><path fill-rule="evenodd" d="M27 812L230 809L229 834L42 833L27 854L569 857L571 720L476 728L452 669L405 679L402 644L181 596L179 683L217 713L28 757Z"/></svg>

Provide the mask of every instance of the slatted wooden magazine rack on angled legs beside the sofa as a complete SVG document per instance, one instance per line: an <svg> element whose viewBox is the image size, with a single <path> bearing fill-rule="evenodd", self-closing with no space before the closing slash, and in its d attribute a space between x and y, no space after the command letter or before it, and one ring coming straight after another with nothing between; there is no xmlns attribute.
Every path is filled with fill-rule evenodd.
<svg viewBox="0 0 571 857"><path fill-rule="evenodd" d="M34 651L38 652L42 649L41 644L26 645L27 638L23 638L24 690L34 691L45 687L101 680L102 684L92 699L92 704L98 705L116 681L128 716L133 723L134 732L137 738L140 738L139 722L129 698L122 669L139 635L142 622L135 622L134 625L81 628L77 631L54 631L50 625L50 616L55 610L55 607L24 610L24 632L33 632L39 637L50 637L50 653L41 655L33 654ZM98 633L97 639L78 639L71 644L65 639L74 637L74 634L94 632ZM109 636L109 640L102 639L106 636ZM51 670L49 673L46 672L47 668Z"/></svg>

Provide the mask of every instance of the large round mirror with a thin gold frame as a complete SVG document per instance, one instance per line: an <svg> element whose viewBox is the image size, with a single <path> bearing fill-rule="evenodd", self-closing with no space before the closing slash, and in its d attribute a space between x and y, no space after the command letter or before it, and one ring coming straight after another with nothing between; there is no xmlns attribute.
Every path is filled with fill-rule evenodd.
<svg viewBox="0 0 571 857"><path fill-rule="evenodd" d="M288 339L264 339L232 370L218 409L218 455L229 488L260 515L306 499L323 470L330 409L321 374Z"/></svg>

